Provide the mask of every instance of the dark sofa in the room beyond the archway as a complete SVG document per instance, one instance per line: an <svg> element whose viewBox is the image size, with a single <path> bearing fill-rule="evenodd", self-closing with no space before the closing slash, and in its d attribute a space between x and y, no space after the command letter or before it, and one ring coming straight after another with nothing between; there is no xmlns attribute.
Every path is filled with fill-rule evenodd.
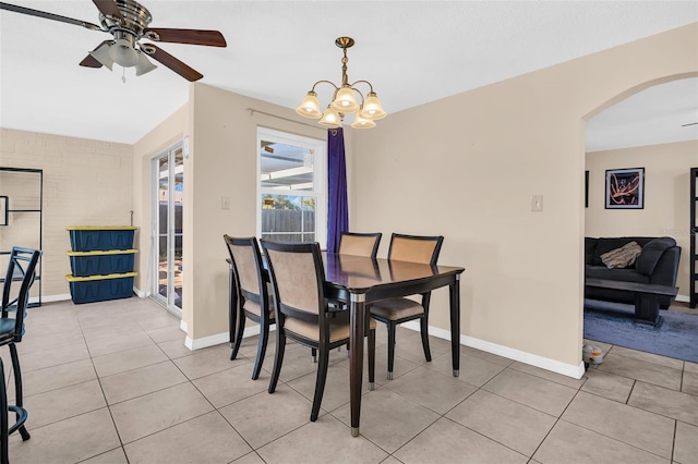
<svg viewBox="0 0 698 464"><path fill-rule="evenodd" d="M601 260L601 255L630 242L637 242L642 247L635 264L628 268L609 269ZM676 286L679 257L681 247L676 246L676 241L669 236L585 237L585 277L587 279ZM585 286L585 298L633 304L635 303L635 293ZM673 300L670 296L660 296L660 308L669 308Z"/></svg>

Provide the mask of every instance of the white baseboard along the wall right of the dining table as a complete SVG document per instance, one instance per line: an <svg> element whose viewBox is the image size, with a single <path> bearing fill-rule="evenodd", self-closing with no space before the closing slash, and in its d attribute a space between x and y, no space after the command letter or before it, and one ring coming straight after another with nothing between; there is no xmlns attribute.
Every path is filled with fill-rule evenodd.
<svg viewBox="0 0 698 464"><path fill-rule="evenodd" d="M420 331L418 321L409 321L401 323L400 327L406 329ZM440 329L436 327L429 328L429 334L450 341L450 330ZM561 363L559 361L551 359L549 357L539 356L537 354L527 353L525 351L515 350L508 346L500 345L496 343L486 342L484 340L476 339L473 337L460 335L459 343L461 345L470 346L476 350L484 351L488 353L496 354L498 356L506 357L508 359L518 361L524 364L530 364L531 366L540 367L541 369L550 370L563 376L580 379L585 374L585 364L579 362L579 365ZM581 353L580 353L581 357Z"/></svg>

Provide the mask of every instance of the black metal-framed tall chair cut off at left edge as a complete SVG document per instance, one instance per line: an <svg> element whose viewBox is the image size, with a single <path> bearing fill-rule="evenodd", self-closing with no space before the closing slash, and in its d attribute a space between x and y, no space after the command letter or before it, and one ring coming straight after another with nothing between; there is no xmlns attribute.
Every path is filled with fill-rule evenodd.
<svg viewBox="0 0 698 464"><path fill-rule="evenodd" d="M24 317L29 303L29 289L36 277L36 265L38 264L40 251L13 247L10 253L8 272L5 273L2 288L2 310L0 313L0 346L10 347L12 359L12 374L14 377L15 404L8 404L7 391L4 388L4 371L0 364L0 379L2 380L2 391L0 392L0 420L2 427L2 449L0 450L0 462L8 462L8 436L20 431L22 440L29 439L29 432L24 423L27 412L22 407L22 371L20 369L20 358L17 356L16 343L22 341L24 335ZM8 412L16 415L16 420L11 427L8 424Z"/></svg>

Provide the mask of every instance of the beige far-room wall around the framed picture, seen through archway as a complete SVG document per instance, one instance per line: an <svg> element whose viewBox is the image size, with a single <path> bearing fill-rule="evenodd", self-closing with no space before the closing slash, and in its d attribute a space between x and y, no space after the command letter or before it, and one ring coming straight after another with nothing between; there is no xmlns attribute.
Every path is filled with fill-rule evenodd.
<svg viewBox="0 0 698 464"><path fill-rule="evenodd" d="M688 297L689 173L698 167L698 141L587 154L587 236L663 236L682 247L678 295ZM645 168L645 208L605 209L606 169Z"/></svg>

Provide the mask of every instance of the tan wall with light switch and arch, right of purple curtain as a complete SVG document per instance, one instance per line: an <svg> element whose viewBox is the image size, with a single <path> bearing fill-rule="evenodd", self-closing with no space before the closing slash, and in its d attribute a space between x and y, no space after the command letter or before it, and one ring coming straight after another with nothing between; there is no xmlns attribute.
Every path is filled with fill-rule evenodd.
<svg viewBox="0 0 698 464"><path fill-rule="evenodd" d="M354 218L445 235L440 262L466 267L465 335L578 365L582 119L627 89L696 72L693 24L394 113L354 137ZM533 194L542 212L530 211ZM432 305L430 323L447 329L447 292Z"/></svg>

